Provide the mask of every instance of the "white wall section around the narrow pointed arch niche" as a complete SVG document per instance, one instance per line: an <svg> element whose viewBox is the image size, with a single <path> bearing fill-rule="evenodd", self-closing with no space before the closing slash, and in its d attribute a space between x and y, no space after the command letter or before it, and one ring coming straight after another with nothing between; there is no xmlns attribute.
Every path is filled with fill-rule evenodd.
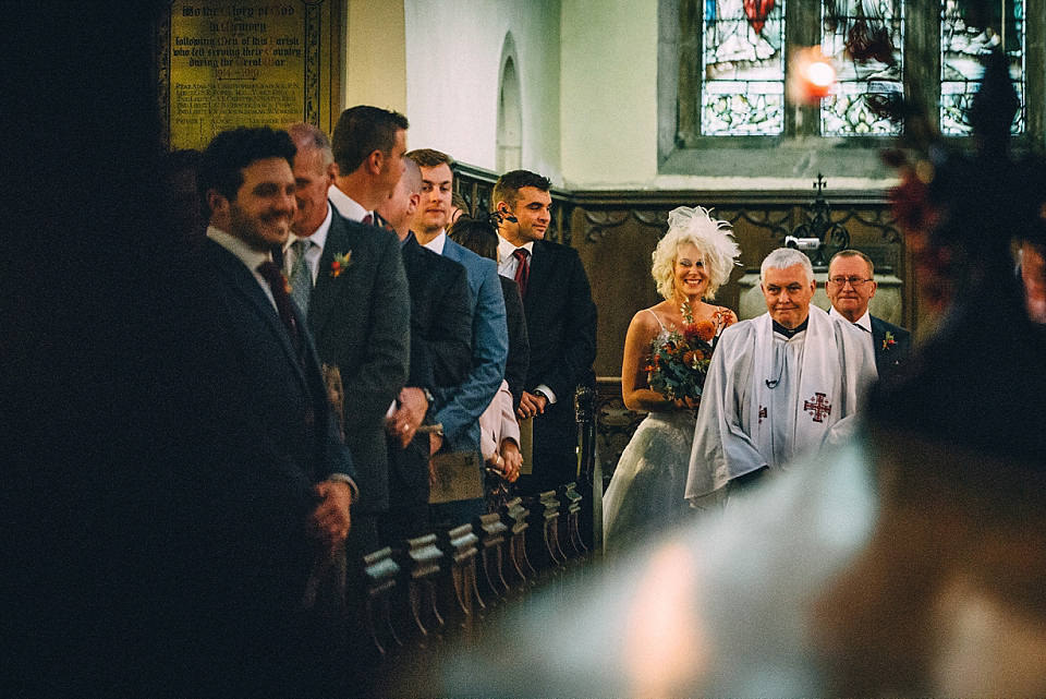
<svg viewBox="0 0 1046 699"><path fill-rule="evenodd" d="M497 162L506 37L522 97L522 167L556 183L560 169L560 1L405 0L408 145L469 165Z"/></svg>

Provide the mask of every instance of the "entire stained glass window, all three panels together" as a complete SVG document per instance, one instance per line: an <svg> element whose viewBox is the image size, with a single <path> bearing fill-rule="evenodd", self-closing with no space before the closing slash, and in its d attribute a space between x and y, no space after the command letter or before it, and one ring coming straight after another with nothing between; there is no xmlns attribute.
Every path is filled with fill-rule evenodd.
<svg viewBox="0 0 1046 699"><path fill-rule="evenodd" d="M1044 0L787 2L789 8L786 0L704 0L695 8L704 22L700 98L694 95L690 103L701 115L694 135L774 136L786 134L786 129L812 133L811 124L804 131L800 120L786 124L784 118L788 49L801 45L796 41L808 41L813 28L800 26L793 15L819 19L820 51L838 74L831 95L819 105L815 131L820 135L899 134L902 125L897 116L905 89L934 99L939 95L941 133L969 135L968 112L984 73L980 57L995 47L1009 59L1021 100L1013 133L1025 131L1024 17L1030 2L1038 8ZM940 22L939 46L937 37L907 36L905 15L913 12L920 22ZM933 45L925 44L931 40ZM936 85L905 87L905 43L913 41L909 50L914 46L921 55L923 50L937 55L939 65L926 68L939 69L939 93Z"/></svg>

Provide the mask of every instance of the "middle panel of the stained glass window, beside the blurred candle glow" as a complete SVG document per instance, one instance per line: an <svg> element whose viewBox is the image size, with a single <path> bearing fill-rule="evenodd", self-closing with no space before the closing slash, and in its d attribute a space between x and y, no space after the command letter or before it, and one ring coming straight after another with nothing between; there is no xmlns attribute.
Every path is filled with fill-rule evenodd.
<svg viewBox="0 0 1046 699"><path fill-rule="evenodd" d="M903 47L903 0L824 0L820 50L838 83L822 100L822 135L900 133L887 115L904 93Z"/></svg>

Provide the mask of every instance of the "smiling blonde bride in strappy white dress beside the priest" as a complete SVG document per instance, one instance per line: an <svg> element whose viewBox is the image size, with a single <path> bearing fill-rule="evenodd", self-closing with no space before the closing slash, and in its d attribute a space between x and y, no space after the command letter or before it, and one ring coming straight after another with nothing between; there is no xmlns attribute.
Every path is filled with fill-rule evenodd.
<svg viewBox="0 0 1046 699"><path fill-rule="evenodd" d="M674 350L695 326L714 346L722 328L737 322L729 309L704 301L730 278L737 262L740 251L728 229L707 209L680 206L669 214L668 232L654 251L652 274L665 301L633 316L621 366L624 405L649 414L621 454L604 496L607 551L671 527L690 509L683 492L700 390L679 390L671 382L666 388L652 370L656 355L664 362L666 350ZM707 366L706 358L696 370L700 379ZM659 390L650 387L652 379Z"/></svg>

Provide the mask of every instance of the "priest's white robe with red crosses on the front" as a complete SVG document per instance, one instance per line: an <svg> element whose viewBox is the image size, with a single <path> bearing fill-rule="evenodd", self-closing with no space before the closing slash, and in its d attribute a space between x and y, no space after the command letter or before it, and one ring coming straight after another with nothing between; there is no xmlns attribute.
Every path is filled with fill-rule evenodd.
<svg viewBox="0 0 1046 699"><path fill-rule="evenodd" d="M774 333L768 313L723 330L702 391L688 499L852 432L875 354L850 323L816 306L808 318L791 338Z"/></svg>

